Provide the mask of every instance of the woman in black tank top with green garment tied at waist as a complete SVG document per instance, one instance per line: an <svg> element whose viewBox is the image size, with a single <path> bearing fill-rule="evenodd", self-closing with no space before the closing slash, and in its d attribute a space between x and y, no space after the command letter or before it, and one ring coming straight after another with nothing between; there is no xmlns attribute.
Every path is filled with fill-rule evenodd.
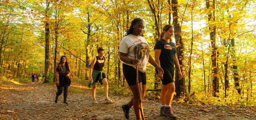
<svg viewBox="0 0 256 120"><path fill-rule="evenodd" d="M104 57L104 49L102 46L98 47L98 56L95 56L92 59L92 64L90 67L90 76L89 76L89 84L88 87L90 88L92 86L92 102L93 104L97 104L96 100L96 87L97 83L100 82L100 84L104 85L104 92L105 92L105 99L104 101L106 103L112 102L108 98L108 80L106 78L106 75L104 73L104 66L105 66L106 58Z"/></svg>

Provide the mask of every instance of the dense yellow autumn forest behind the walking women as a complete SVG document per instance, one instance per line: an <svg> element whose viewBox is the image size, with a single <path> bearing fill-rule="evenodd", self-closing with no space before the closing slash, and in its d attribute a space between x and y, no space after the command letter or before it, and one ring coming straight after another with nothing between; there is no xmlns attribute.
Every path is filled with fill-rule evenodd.
<svg viewBox="0 0 256 120"><path fill-rule="evenodd" d="M6 78L45 72L44 82L52 82L65 55L72 80L87 83L96 49L104 46L110 93L129 95L117 51L131 21L141 18L152 56L163 26L175 28L184 76L175 77L177 102L255 106L255 0L1 0L0 17ZM159 99L161 80L150 64L146 75L147 95Z"/></svg>

